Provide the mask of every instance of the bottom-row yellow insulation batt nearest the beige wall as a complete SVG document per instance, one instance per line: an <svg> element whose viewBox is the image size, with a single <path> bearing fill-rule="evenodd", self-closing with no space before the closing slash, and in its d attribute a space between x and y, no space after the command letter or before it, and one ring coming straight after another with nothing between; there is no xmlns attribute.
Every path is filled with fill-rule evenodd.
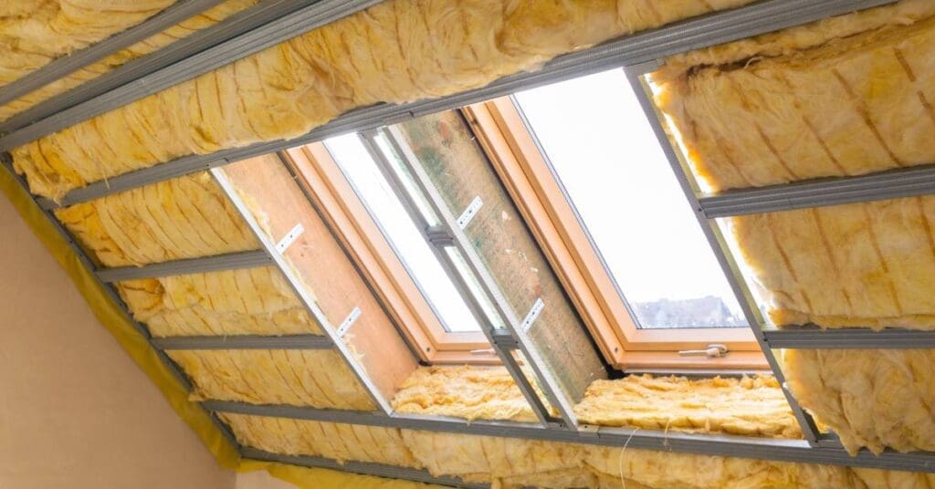
<svg viewBox="0 0 935 489"><path fill-rule="evenodd" d="M344 463L422 467L396 428L221 414L242 445L270 453L320 456Z"/></svg>

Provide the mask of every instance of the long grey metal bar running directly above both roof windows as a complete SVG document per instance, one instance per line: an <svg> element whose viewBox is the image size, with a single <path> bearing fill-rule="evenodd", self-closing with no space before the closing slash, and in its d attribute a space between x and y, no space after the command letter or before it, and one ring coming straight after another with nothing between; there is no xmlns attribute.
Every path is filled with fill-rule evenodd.
<svg viewBox="0 0 935 489"><path fill-rule="evenodd" d="M746 7L700 16L669 26L621 37L594 48L556 57L535 72L522 72L498 79L476 90L408 104L379 104L345 113L302 137L256 143L210 154L182 156L170 162L98 181L65 195L63 205L75 204L114 192L168 180L214 166L227 165L253 156L286 150L325 137L376 129L385 124L424 114L460 108L563 79L581 77L611 68L660 59L671 54L756 36L784 27L813 22L827 16L893 3L895 0L768 0ZM90 102L89 102L90 103ZM72 118L70 123L79 122ZM66 124L70 125L70 124ZM23 130L26 130L24 128ZM48 132L37 132L37 135ZM14 135L11 135L14 136ZM35 136L38 137L38 136ZM24 140L35 138L26 137ZM22 137L20 137L23 140ZM13 141L17 142L17 141ZM19 142L18 144L22 144ZM0 138L0 147L16 146Z"/></svg>

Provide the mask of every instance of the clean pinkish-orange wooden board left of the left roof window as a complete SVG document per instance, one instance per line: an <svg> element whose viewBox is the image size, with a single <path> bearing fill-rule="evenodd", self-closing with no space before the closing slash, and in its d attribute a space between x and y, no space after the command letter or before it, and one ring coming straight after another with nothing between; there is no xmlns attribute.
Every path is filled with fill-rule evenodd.
<svg viewBox="0 0 935 489"><path fill-rule="evenodd" d="M334 327L353 308L360 308L361 315L345 340L382 395L392 399L399 384L418 366L416 359L280 157L251 158L227 165L223 171L274 242L297 223L305 228L283 256Z"/></svg>

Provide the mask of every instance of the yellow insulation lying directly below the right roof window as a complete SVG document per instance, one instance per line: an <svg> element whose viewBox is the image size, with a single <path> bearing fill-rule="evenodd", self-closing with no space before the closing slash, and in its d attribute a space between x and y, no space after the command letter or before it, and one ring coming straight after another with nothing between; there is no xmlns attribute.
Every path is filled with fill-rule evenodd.
<svg viewBox="0 0 935 489"><path fill-rule="evenodd" d="M594 381L575 406L581 423L799 439L774 377L698 379L628 376Z"/></svg>

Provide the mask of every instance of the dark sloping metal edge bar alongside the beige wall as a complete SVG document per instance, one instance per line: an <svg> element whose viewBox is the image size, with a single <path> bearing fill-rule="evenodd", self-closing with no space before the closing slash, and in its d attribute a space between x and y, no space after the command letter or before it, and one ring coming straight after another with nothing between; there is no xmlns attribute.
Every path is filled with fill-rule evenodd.
<svg viewBox="0 0 935 489"><path fill-rule="evenodd" d="M3 168L6 171L8 171L9 174L12 175L13 178L20 184L20 186L22 187L22 190L27 195L29 195L29 185L26 183L26 180L23 179L21 175L17 174L16 171L13 169L13 160L10 157L9 153L6 153L6 152L0 153L0 166L3 166ZM36 202L36 197L33 195L30 195L30 196L33 198L33 201ZM38 203L36 203L36 205L38 205ZM94 271L94 264L92 263L91 259L88 257L87 253L85 253L84 250L79 246L78 241L76 241L75 237L71 236L71 233L69 233L68 230L65 229L65 226L62 225L62 223L60 223L57 219L55 219L55 215L52 214L49 210L43 210L42 213L45 214L46 219L49 220L49 222L52 224L52 227L55 228L55 231L59 234L59 236L65 238L65 241L68 243L69 248L71 248L72 252L75 253L75 256L78 257L80 264L84 266L88 271ZM192 392L192 382L189 381L188 376L185 375L182 369L171 358L169 358L169 356L165 354L165 352L155 348L152 345L152 336L150 335L149 328L147 328L145 325L139 323L136 319L134 319L133 314L130 312L130 309L127 308L126 303L123 302L123 299L120 297L120 295L117 294L114 288L100 279L97 279L97 284L104 291L105 295L108 296L108 299L110 299L110 301L116 304L117 308L120 309L120 313L123 316L123 321L126 321L127 323L133 325L134 329L137 330L137 333L139 334L139 336L144 338L150 344L151 348L156 353L156 356L159 357L159 359L163 362L165 367L167 367L168 370L172 372L172 375L180 382L182 388L188 392ZM233 446L237 447L238 446L237 439L234 438L234 434L231 433L227 425L221 423L220 420L217 418L217 415L213 411L205 410L205 412L211 418L212 423L217 425L218 429L221 430L221 433L223 434L224 438L226 438Z"/></svg>

